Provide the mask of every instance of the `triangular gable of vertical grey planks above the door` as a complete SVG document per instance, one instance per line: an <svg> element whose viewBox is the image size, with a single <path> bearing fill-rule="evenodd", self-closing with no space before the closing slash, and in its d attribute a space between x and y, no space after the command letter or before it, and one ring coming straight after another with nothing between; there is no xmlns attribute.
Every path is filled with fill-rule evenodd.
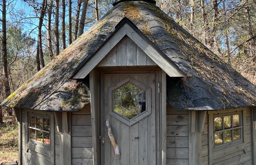
<svg viewBox="0 0 256 165"><path fill-rule="evenodd" d="M157 65L127 36L99 62L97 66L146 66Z"/></svg>

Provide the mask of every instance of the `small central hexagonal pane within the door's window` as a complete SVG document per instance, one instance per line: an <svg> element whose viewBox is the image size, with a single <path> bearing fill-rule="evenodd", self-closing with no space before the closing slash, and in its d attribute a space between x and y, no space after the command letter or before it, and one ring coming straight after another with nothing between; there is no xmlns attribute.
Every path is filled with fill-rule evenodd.
<svg viewBox="0 0 256 165"><path fill-rule="evenodd" d="M138 95L127 92L121 97L121 106L126 108L127 110L133 110L138 106Z"/></svg>

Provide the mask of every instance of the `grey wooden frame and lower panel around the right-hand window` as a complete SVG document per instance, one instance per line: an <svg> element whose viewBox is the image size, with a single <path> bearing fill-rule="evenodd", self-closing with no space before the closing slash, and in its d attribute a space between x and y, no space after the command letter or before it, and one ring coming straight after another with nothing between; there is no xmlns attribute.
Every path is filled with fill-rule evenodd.
<svg viewBox="0 0 256 165"><path fill-rule="evenodd" d="M240 114L241 138L227 144L214 145L214 117ZM247 152L246 109L231 109L208 111L209 164L214 164L229 158L230 154ZM223 139L224 140L224 139ZM240 155L239 154L239 155Z"/></svg>

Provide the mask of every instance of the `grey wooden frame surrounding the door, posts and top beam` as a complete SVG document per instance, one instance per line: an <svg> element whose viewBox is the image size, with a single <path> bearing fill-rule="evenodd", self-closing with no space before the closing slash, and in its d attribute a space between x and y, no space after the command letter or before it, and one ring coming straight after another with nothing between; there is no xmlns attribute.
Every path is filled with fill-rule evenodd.
<svg viewBox="0 0 256 165"><path fill-rule="evenodd" d="M118 71L117 71L118 69ZM90 96L91 96L91 117L92 117L92 143L93 143L93 162L94 165L100 165L100 85L102 83L102 74L115 73L150 73L156 72L160 87L156 85L156 107L159 112L156 113L156 164L166 165L166 73L158 66L153 67L111 67L94 68L89 74ZM157 84L158 82L156 82ZM159 89L158 89L159 88ZM159 91L159 94L157 94ZM163 92L162 92L163 91ZM157 98L158 97L158 98Z"/></svg>

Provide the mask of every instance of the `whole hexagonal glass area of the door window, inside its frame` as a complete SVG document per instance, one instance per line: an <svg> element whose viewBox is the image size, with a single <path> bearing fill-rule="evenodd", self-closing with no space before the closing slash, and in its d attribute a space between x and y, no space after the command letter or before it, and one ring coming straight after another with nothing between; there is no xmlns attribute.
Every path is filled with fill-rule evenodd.
<svg viewBox="0 0 256 165"><path fill-rule="evenodd" d="M114 90L113 111L127 119L146 111L146 91L131 82Z"/></svg>

